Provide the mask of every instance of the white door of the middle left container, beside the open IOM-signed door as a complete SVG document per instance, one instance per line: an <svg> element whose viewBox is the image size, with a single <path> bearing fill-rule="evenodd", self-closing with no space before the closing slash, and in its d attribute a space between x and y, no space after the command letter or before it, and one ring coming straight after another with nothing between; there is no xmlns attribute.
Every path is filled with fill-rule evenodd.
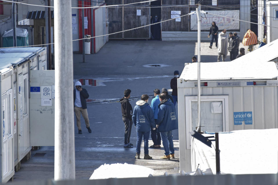
<svg viewBox="0 0 278 185"><path fill-rule="evenodd" d="M28 73L18 77L18 115L19 115L19 160L29 151L30 132L29 132L29 96L28 96Z"/></svg>

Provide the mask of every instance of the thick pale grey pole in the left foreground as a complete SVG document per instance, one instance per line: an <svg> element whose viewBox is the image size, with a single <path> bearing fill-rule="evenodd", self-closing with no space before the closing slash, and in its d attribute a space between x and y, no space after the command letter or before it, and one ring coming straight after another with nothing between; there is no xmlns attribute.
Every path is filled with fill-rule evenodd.
<svg viewBox="0 0 278 185"><path fill-rule="evenodd" d="M68 0L54 1L55 150L54 180L75 179L72 10Z"/></svg>

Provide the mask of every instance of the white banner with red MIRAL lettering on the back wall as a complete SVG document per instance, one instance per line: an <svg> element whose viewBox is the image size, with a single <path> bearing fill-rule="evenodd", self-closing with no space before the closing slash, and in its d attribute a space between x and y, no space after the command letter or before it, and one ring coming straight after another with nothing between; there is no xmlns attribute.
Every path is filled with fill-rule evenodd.
<svg viewBox="0 0 278 185"><path fill-rule="evenodd" d="M194 12L194 11L191 11ZM202 18L201 19L201 30L209 30L211 27L211 23L214 21L218 27L219 30L222 29L239 29L239 21L235 19L239 19L239 10L233 10L233 11L212 11L212 10L206 10L206 12L215 14L215 15L221 15L229 18L219 17L211 14L206 14L207 20ZM203 16L203 14L201 14ZM191 30L197 30L197 15L193 14L190 16L191 21ZM233 19L235 18L235 19Z"/></svg>

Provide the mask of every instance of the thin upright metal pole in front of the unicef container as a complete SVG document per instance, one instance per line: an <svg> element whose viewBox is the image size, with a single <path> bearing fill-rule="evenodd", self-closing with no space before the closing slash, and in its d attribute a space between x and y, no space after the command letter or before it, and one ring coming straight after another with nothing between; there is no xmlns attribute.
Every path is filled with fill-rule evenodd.
<svg viewBox="0 0 278 185"><path fill-rule="evenodd" d="M197 132L199 132L199 128L200 128L200 119L201 119L201 79L200 79L200 62L201 62L201 17L200 17L200 10L201 10L201 5L198 4L198 8L196 8L196 13L197 13L197 20L198 20L198 32L197 32L197 40L198 40L198 56L197 56L197 62L198 62L198 91L197 91L197 95L198 95L198 128L197 128Z"/></svg>

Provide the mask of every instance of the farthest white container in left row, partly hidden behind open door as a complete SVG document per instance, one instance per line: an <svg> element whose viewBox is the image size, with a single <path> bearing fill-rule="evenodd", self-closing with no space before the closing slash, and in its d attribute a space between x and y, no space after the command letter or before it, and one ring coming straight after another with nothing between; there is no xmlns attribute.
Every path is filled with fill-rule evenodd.
<svg viewBox="0 0 278 185"><path fill-rule="evenodd" d="M3 48L1 53L13 53L13 57L28 58L31 70L46 70L46 47Z"/></svg>

